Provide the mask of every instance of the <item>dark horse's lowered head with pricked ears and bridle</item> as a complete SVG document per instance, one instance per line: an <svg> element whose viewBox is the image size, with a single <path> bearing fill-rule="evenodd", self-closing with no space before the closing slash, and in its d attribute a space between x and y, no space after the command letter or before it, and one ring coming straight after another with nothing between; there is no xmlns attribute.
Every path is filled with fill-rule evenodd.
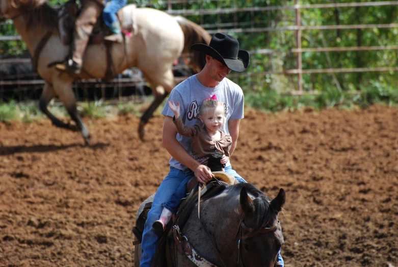
<svg viewBox="0 0 398 267"><path fill-rule="evenodd" d="M242 266L275 266L278 251L283 245L283 236L278 213L285 204L285 191L270 201L260 190L245 185L240 193L241 226L236 242L241 251ZM239 265L241 266L241 265Z"/></svg>

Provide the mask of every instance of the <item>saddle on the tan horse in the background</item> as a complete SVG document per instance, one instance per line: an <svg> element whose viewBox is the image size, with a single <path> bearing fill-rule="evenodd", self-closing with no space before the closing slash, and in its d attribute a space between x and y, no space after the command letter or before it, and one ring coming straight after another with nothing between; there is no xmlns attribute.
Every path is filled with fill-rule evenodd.
<svg viewBox="0 0 398 267"><path fill-rule="evenodd" d="M92 0L95 1L95 0ZM99 4L98 4L99 5ZM131 8L131 16L124 17L123 11L120 9L116 15L118 17L120 28L122 32L126 35L135 35L137 32L137 25L134 18L134 10L136 9L136 5L132 5ZM79 7L76 4L75 0L69 0L66 2L58 12L58 28L60 31L61 41L65 45L70 45L72 42L73 30L75 25L76 17L79 13ZM110 35L110 31L108 26L103 22L102 13L97 19L97 22L94 25L93 31L90 34L89 43L90 44L100 44L104 42L104 37Z"/></svg>

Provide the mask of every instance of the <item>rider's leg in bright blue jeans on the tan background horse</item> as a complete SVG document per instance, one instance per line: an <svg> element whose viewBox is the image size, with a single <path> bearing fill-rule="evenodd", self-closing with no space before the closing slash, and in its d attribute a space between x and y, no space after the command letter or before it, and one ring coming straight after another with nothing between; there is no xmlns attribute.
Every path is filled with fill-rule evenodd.
<svg viewBox="0 0 398 267"><path fill-rule="evenodd" d="M108 26L112 35L105 37L106 40L122 42L122 32L120 28L119 20L116 16L116 12L126 5L126 0L108 0L105 2L105 8L103 9L103 21Z"/></svg>

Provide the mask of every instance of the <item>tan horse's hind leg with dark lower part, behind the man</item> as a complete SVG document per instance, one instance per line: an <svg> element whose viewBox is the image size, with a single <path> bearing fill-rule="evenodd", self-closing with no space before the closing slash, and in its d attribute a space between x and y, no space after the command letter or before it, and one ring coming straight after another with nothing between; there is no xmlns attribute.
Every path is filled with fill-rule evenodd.
<svg viewBox="0 0 398 267"><path fill-rule="evenodd" d="M145 79L151 85L155 99L141 117L141 122L138 128L138 134L141 140L144 139L145 125L148 123L149 118L174 88L174 76L171 71L171 66L170 69L164 71L163 74L160 71L152 71L149 75L143 71L143 74Z"/></svg>

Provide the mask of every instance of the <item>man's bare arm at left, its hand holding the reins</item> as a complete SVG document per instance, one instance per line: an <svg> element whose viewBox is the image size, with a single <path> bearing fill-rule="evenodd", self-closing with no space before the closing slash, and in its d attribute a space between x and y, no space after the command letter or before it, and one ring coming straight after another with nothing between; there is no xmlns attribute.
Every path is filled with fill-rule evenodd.
<svg viewBox="0 0 398 267"><path fill-rule="evenodd" d="M201 183L206 183L212 178L210 168L201 165L197 160L191 157L182 145L176 139L177 129L171 116L165 116L162 132L162 143L170 155L178 162L184 164L195 172L195 176Z"/></svg>

